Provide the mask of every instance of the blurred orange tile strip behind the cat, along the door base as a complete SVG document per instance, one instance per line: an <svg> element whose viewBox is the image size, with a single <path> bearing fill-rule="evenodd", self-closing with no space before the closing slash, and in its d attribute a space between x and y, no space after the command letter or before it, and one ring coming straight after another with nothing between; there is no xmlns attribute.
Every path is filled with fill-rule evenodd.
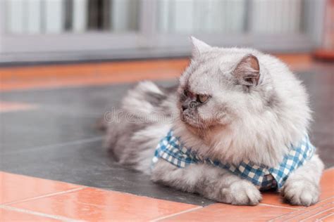
<svg viewBox="0 0 334 222"><path fill-rule="evenodd" d="M307 54L278 55L294 70L311 67ZM188 59L142 60L80 65L40 65L0 68L0 91L45 89L60 86L97 86L143 79L175 79L180 76Z"/></svg>

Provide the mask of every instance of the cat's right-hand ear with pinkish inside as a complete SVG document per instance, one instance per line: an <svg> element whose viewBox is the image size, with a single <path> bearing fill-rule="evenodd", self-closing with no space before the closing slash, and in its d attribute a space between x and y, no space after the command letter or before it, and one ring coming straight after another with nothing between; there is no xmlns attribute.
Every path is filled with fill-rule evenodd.
<svg viewBox="0 0 334 222"><path fill-rule="evenodd" d="M245 86L257 86L260 79L259 60L255 55L246 55L233 70L233 76L237 78L239 84Z"/></svg>

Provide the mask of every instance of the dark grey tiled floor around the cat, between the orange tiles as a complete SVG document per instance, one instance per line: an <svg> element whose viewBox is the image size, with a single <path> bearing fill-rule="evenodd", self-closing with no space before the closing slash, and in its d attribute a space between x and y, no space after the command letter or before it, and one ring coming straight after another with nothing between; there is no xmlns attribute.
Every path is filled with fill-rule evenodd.
<svg viewBox="0 0 334 222"><path fill-rule="evenodd" d="M334 72L299 74L311 95L311 141L326 167L334 165ZM163 85L175 82L159 82ZM164 200L206 205L198 195L156 185L119 166L101 148L97 119L117 104L132 84L1 93L0 100L39 108L2 113L0 170L78 183Z"/></svg>

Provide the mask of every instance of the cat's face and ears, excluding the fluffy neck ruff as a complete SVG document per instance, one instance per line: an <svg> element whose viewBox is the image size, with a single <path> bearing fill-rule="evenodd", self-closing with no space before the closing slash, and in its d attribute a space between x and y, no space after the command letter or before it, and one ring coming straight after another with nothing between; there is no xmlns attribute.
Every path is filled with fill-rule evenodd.
<svg viewBox="0 0 334 222"><path fill-rule="evenodd" d="M194 131L227 126L261 110L271 86L258 51L217 48L192 39L192 61L180 77L180 119Z"/></svg>

